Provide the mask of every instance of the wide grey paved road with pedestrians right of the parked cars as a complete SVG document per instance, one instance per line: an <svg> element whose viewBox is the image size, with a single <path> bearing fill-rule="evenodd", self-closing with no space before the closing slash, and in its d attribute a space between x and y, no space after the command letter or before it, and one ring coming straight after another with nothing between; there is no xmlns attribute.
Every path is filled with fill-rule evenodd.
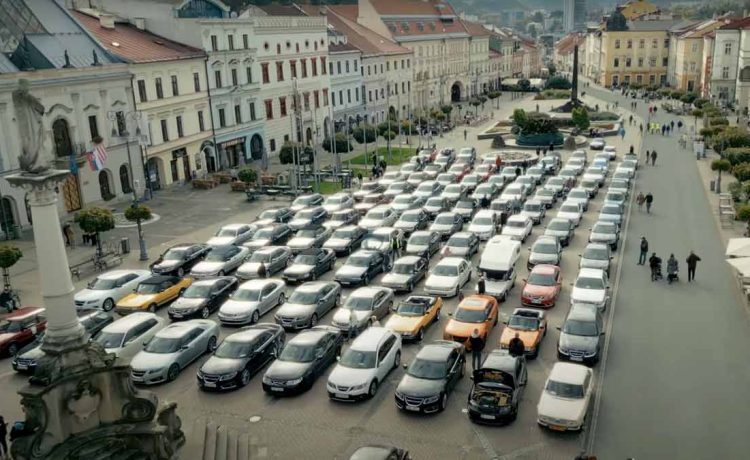
<svg viewBox="0 0 750 460"><path fill-rule="evenodd" d="M587 91L629 106L608 91ZM638 109L645 119L643 101ZM672 118L659 110L654 121ZM647 135L643 148L658 152L656 167L641 168L637 184L654 194L654 209L631 216L589 445L604 459L747 458L748 311L724 261L695 158L680 151L675 136ZM678 284L650 283L648 267L636 265L641 235L665 262L675 254ZM702 261L688 284L690 250Z"/></svg>

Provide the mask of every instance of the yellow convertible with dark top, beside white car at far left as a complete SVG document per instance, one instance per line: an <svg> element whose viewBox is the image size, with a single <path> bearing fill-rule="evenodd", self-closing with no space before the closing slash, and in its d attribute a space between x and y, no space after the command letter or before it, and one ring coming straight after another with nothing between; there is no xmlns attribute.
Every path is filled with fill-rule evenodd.
<svg viewBox="0 0 750 460"><path fill-rule="evenodd" d="M115 311L121 315L135 311L154 312L158 307L176 299L192 282L192 278L153 275L141 281L132 294L117 302Z"/></svg>

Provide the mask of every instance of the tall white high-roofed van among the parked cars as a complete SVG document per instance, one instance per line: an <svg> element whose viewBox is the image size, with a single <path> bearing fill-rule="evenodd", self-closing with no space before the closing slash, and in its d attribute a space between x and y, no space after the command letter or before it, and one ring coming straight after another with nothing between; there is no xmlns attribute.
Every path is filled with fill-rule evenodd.
<svg viewBox="0 0 750 460"><path fill-rule="evenodd" d="M521 242L509 236L492 237L482 251L479 272L484 275L485 294L505 300L516 282L516 263L521 257Z"/></svg>

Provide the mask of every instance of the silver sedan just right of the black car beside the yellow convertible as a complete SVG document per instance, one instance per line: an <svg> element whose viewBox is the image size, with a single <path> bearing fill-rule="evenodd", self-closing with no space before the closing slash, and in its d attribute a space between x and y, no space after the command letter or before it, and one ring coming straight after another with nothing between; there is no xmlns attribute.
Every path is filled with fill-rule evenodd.
<svg viewBox="0 0 750 460"><path fill-rule="evenodd" d="M261 316L286 302L285 288L279 279L245 281L219 307L219 321L231 326L257 323Z"/></svg>

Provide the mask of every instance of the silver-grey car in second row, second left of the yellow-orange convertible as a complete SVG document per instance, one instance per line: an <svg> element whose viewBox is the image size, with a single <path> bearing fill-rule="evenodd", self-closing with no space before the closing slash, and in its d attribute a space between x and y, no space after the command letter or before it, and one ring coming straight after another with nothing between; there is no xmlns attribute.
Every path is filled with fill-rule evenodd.
<svg viewBox="0 0 750 460"><path fill-rule="evenodd" d="M341 303L341 286L333 281L312 281L294 290L274 319L284 329L305 329Z"/></svg>

